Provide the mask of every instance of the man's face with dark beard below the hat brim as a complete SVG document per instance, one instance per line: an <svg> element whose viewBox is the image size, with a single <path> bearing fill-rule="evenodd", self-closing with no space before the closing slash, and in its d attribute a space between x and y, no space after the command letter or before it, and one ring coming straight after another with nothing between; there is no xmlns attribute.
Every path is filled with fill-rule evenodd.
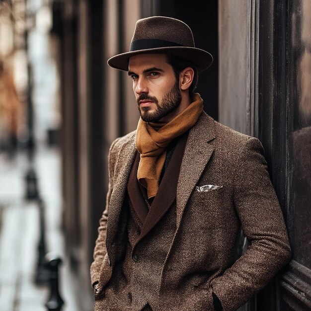
<svg viewBox="0 0 311 311"><path fill-rule="evenodd" d="M141 118L146 122L168 122L181 101L179 81L164 54L132 56L129 76Z"/></svg>

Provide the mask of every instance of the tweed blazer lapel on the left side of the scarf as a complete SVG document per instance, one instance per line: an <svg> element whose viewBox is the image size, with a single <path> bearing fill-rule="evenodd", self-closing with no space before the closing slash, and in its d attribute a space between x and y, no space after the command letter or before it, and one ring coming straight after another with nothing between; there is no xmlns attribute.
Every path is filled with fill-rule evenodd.
<svg viewBox="0 0 311 311"><path fill-rule="evenodd" d="M135 154L135 133L133 133L129 140L121 147L115 164L113 189L110 197L109 216L107 219L107 249L112 244L117 233L119 217L125 197L126 184L135 159Z"/></svg>

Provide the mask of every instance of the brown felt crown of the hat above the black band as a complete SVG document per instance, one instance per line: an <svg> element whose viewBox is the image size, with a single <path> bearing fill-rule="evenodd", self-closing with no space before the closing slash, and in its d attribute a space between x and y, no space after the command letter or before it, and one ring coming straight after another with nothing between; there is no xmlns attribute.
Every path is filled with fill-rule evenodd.
<svg viewBox="0 0 311 311"><path fill-rule="evenodd" d="M192 31L183 21L171 17L153 16L139 19L132 42L142 39L157 39L185 47L195 47Z"/></svg>

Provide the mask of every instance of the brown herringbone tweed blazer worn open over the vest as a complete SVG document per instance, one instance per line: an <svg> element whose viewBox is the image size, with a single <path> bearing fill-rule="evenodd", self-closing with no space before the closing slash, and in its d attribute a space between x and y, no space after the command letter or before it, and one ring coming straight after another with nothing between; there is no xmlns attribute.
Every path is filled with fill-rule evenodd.
<svg viewBox="0 0 311 311"><path fill-rule="evenodd" d="M106 208L91 265L96 310L100 310L116 263L116 234L135 155L135 131L115 140L110 148ZM209 191L196 188L204 185L218 187ZM250 246L234 261L240 227ZM234 311L268 283L289 261L291 249L259 140L202 112L189 131L182 158L174 228L164 257L157 249L161 250L158 235L165 232L156 234L150 228L143 237L152 238L150 243L155 240L157 267L148 268L156 284L154 311L213 311L213 292L224 311Z"/></svg>

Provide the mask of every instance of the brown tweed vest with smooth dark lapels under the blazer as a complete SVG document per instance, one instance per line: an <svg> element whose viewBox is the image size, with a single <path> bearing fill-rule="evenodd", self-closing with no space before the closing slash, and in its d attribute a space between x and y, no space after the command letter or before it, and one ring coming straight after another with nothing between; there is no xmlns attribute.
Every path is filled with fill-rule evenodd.
<svg viewBox="0 0 311 311"><path fill-rule="evenodd" d="M156 299L151 293L157 292L160 287L155 280L161 279L159 276L162 272L158 255L159 253L162 255L161 260L164 263L176 231L176 188L186 141L187 134L179 138L151 205L145 189L137 180L140 160L137 153L127 183L127 195L123 206L123 209L128 209L126 241L124 239L126 249L121 250L119 247L118 252L125 252L125 255L116 264L112 278L107 284L105 294L109 306L107 310L141 311L144 307L144 310L149 310L146 309L149 305L153 307ZM158 248L155 248L155 240L159 239L159 236L161 239L156 243ZM157 256L154 256L155 252ZM153 263L155 257L156 264ZM146 264L150 266L149 269L146 269ZM152 276L146 274L145 271L151 270Z"/></svg>

